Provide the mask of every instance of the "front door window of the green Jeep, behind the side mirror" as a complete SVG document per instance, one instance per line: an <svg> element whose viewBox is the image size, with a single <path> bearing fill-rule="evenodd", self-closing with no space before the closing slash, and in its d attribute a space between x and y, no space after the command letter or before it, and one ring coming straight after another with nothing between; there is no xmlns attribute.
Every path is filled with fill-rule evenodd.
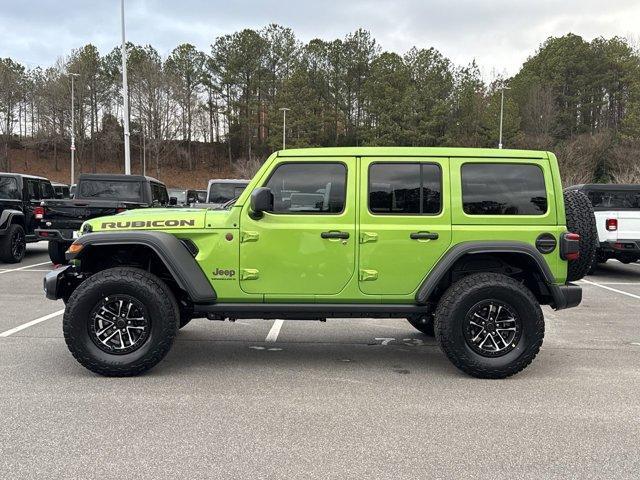
<svg viewBox="0 0 640 480"><path fill-rule="evenodd" d="M346 181L342 163L284 163L265 186L273 193L272 213L341 213Z"/></svg>

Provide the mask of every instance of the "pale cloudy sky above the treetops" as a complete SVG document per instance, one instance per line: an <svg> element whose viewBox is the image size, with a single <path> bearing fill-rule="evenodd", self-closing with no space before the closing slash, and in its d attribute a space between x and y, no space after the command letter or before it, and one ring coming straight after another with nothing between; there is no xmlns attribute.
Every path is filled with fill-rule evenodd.
<svg viewBox="0 0 640 480"><path fill-rule="evenodd" d="M167 55L179 43L209 51L213 39L269 23L298 38L342 38L363 27L382 49L435 47L457 64L474 58L486 77L513 74L549 36L640 39L640 0L125 0L127 40ZM0 0L0 57L49 66L93 43L120 42L119 0Z"/></svg>

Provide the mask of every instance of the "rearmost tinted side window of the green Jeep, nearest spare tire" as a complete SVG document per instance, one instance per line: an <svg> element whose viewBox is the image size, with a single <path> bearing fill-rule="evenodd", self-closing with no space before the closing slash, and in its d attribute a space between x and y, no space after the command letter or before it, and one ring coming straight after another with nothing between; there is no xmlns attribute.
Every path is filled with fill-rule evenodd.
<svg viewBox="0 0 640 480"><path fill-rule="evenodd" d="M537 165L462 165L462 203L468 215L543 215L547 212L544 174Z"/></svg>

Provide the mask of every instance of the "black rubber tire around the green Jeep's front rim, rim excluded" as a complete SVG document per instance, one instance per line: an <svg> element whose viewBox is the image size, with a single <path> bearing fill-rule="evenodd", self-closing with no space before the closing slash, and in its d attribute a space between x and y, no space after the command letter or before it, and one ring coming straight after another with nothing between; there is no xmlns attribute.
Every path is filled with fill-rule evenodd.
<svg viewBox="0 0 640 480"><path fill-rule="evenodd" d="M90 337L90 313L109 295L128 295L139 301L150 319L150 333L136 350L109 354ZM85 280L71 294L63 318L67 347L84 367L100 375L139 375L156 365L169 352L180 313L169 287L157 276L131 267L103 270Z"/></svg>

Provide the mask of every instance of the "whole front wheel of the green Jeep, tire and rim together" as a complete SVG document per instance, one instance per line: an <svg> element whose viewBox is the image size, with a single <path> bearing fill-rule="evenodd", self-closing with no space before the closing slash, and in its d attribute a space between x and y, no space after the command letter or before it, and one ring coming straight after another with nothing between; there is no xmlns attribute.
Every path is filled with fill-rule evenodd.
<svg viewBox="0 0 640 480"><path fill-rule="evenodd" d="M138 375L169 352L179 318L173 293L158 277L137 268L111 268L71 294L64 338L76 360L92 372Z"/></svg>

